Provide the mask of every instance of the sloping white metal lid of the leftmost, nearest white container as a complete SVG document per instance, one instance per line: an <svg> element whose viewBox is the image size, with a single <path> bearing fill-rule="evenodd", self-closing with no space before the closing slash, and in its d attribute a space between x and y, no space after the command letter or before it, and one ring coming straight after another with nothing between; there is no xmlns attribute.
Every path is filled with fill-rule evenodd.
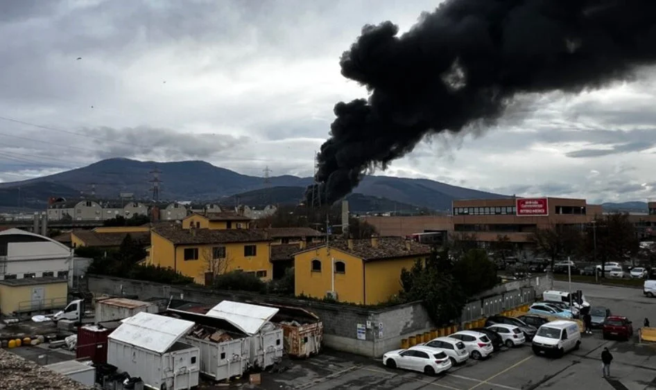
<svg viewBox="0 0 656 390"><path fill-rule="evenodd" d="M147 312L137 313L121 322L123 322L121 326L108 336L110 339L157 353L169 350L194 325L193 322L184 319Z"/></svg>

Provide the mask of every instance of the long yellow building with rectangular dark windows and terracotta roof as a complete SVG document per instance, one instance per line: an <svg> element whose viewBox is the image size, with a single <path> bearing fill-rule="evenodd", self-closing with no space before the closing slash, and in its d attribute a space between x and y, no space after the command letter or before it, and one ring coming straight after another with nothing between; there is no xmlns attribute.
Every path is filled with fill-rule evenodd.
<svg viewBox="0 0 656 390"><path fill-rule="evenodd" d="M269 241L261 230L160 226L151 231L147 263L174 269L199 284L236 270L270 280Z"/></svg>

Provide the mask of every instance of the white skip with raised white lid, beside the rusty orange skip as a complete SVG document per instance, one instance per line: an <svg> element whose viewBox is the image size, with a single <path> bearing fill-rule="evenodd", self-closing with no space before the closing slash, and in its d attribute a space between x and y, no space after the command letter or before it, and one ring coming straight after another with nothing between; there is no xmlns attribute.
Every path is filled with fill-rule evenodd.
<svg viewBox="0 0 656 390"><path fill-rule="evenodd" d="M269 306L223 301L207 312L208 317L225 319L250 336L250 364L267 369L282 359L283 330L270 320L279 311Z"/></svg>

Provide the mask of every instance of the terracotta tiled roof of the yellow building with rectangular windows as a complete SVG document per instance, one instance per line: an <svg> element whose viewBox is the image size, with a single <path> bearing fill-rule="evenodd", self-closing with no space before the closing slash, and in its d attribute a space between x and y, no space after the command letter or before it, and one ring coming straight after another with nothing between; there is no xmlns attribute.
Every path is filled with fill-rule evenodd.
<svg viewBox="0 0 656 390"><path fill-rule="evenodd" d="M268 241L264 231L254 229L182 229L168 225L154 227L153 231L175 245Z"/></svg>

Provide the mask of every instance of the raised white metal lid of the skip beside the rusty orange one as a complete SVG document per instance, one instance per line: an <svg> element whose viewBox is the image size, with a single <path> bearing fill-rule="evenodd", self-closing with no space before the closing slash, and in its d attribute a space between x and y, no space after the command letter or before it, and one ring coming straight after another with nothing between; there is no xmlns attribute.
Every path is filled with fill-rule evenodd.
<svg viewBox="0 0 656 390"><path fill-rule="evenodd" d="M275 316L277 308L223 301L207 312L207 316L225 319L247 335L254 335Z"/></svg>

